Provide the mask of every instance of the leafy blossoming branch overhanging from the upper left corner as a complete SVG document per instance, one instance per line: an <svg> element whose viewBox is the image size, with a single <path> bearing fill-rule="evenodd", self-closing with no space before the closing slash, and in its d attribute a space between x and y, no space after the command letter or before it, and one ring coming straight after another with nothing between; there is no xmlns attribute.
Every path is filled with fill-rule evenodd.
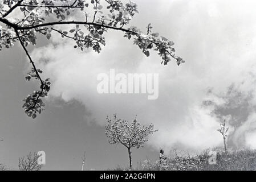
<svg viewBox="0 0 256 182"><path fill-rule="evenodd" d="M175 55L174 43L158 33L152 32L149 23L145 33L139 28L132 26L125 28L137 11L137 5L133 2L123 3L120 0L3 0L0 1L0 50L11 48L15 42L19 42L24 49L30 63L31 71L26 76L26 80L35 78L39 81L40 88L35 90L23 101L25 113L32 118L41 113L45 104L42 98L48 96L50 91L50 79L43 79L40 74L42 70L36 68L36 63L32 60L27 45L36 45L37 35L46 36L50 39L52 32L59 34L62 38L74 40L74 48L82 51L92 48L99 53L101 46L105 46L104 33L108 30L122 31L124 37L131 39L142 52L149 56L149 51L156 51L161 57L161 63L167 64L174 59L177 65L185 61ZM103 10L103 6L105 9ZM10 15L15 11L15 16ZM107 12L107 13L105 13ZM83 20L73 19L75 14L83 16ZM5 27L2 27L3 24ZM62 27L56 27L60 26ZM63 26L69 26L64 30Z"/></svg>

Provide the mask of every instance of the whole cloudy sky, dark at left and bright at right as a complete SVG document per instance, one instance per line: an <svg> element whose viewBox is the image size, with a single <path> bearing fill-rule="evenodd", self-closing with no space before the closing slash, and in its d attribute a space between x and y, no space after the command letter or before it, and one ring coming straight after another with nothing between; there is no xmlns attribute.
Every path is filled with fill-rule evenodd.
<svg viewBox="0 0 256 182"><path fill-rule="evenodd" d="M156 53L145 57L123 32L108 31L100 54L80 52L74 42L56 35L39 38L30 49L52 89L46 110L35 120L21 108L36 83L25 81L30 65L20 46L0 53L0 162L17 169L29 151L46 152L43 169L86 169L128 165L123 146L111 146L104 135L105 118L131 121L159 131L147 146L133 150L133 163L157 160L160 148L201 151L222 146L220 117L230 127L229 148L256 148L256 12L255 1L135 1L131 24L173 40L186 62L161 65ZM99 73L159 73L159 98L146 94L99 94Z"/></svg>

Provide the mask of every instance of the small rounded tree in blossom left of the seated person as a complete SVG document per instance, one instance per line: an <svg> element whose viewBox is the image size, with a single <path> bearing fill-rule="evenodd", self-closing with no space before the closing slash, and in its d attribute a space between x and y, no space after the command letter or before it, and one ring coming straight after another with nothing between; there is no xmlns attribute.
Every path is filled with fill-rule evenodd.
<svg viewBox="0 0 256 182"><path fill-rule="evenodd" d="M113 122L107 117L107 125L105 126L105 135L109 138L110 144L122 144L128 149L129 167L132 168L132 151L131 148L143 147L148 141L149 134L153 134L157 130L153 130L152 124L148 126L140 126L141 124L134 119L132 123L128 123L123 119L117 119L116 114Z"/></svg>

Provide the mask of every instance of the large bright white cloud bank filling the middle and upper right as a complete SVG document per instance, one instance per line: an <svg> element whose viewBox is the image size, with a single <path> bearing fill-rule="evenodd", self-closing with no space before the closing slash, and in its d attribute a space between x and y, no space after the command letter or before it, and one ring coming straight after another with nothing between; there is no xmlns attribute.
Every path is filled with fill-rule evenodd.
<svg viewBox="0 0 256 182"><path fill-rule="evenodd" d="M202 103L212 100L218 105L226 104L226 90L245 78L253 84L238 86L239 92L246 95L254 90L254 78L248 75L255 73L252 69L256 56L256 12L255 5L252 6L255 2L172 1L170 6L166 1L138 3L141 10L133 24L142 29L145 20L151 21L160 35L174 40L177 54L186 63L180 67L174 61L161 65L159 56L152 53L145 57L121 32L108 32L107 45L100 54L80 52L73 48L74 43L55 38L32 53L34 59L40 60L39 67L45 76L53 82L50 99L80 101L86 107L85 120L101 126L107 115L117 113L118 117L131 120L137 114L139 121L154 123L159 129L149 140L155 148L202 150L220 146L219 119L212 114L216 107L205 107ZM156 10L157 14L153 14ZM112 68L125 74L159 73L159 98L147 100L145 94L97 93L97 74L108 74ZM209 94L209 89L214 94ZM251 97L251 105L255 101ZM254 126L254 115L238 122L241 122L239 128L232 131L237 133L234 136L244 135L243 144L255 147L252 139L255 130L245 133ZM233 143L238 138L234 137Z"/></svg>

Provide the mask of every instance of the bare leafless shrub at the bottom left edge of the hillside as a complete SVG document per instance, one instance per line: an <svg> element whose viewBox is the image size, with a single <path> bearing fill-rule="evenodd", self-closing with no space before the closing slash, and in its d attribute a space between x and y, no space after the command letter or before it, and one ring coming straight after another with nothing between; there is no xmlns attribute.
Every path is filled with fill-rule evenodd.
<svg viewBox="0 0 256 182"><path fill-rule="evenodd" d="M27 156L19 158L19 171L40 171L42 165L38 164L39 157L36 152L30 152Z"/></svg>

